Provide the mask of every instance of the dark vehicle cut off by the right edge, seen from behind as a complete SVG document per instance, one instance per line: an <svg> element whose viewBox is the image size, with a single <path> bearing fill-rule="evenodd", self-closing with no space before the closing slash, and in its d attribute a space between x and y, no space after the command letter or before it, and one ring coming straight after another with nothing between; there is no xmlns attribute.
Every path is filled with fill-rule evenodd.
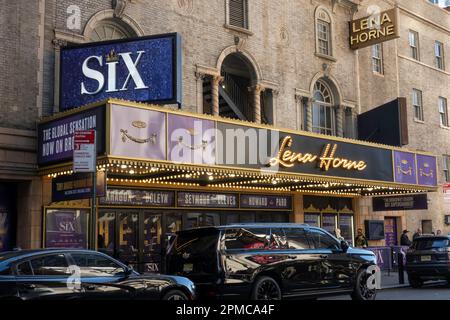
<svg viewBox="0 0 450 320"><path fill-rule="evenodd" d="M450 237L416 238L406 253L406 272L413 288L420 288L427 280L450 283Z"/></svg>

